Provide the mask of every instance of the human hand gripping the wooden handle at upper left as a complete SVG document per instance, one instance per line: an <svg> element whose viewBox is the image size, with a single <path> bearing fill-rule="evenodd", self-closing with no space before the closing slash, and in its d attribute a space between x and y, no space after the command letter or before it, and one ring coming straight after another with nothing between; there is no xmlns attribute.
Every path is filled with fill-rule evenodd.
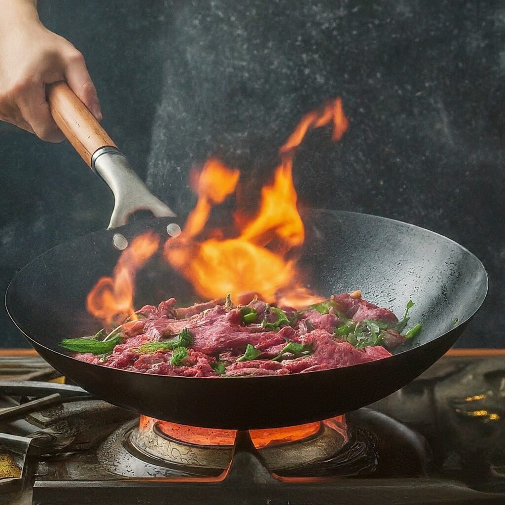
<svg viewBox="0 0 505 505"><path fill-rule="evenodd" d="M65 80L102 120L82 54L42 25L32 2L0 0L0 10L0 119L42 140L60 142L64 136L49 111L45 85Z"/></svg>

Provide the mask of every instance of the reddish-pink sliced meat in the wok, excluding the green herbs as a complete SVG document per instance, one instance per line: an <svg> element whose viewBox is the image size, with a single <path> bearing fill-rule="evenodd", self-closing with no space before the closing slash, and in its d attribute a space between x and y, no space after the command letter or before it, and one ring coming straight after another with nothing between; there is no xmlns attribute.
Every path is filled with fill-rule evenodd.
<svg viewBox="0 0 505 505"><path fill-rule="evenodd" d="M261 376L308 373L391 356L382 346L355 348L334 335L334 328L343 323L338 312L356 322L372 319L393 323L397 319L391 311L363 300L356 293L343 293L332 296L331 299L336 307L330 308L328 314L307 309L300 313L294 328L284 326L281 329L268 330L261 325L268 306L257 298L250 301L248 307L258 312L258 321L248 325L243 323L240 315L243 306L225 306L225 300L215 299L205 304L178 309L175 308L176 300L170 298L161 302L158 307L142 307L138 314L144 316L143 318L124 323L121 327L124 341L116 345L110 355L79 354L77 358L94 365L149 374L222 377L212 368L216 359L225 365L225 376ZM294 316L294 312L291 311L287 315ZM271 313L267 319L275 322L277 315ZM143 343L170 341L185 328L191 332L193 341L181 366L170 365L173 355L171 349L159 349L153 353L140 352L139 347ZM383 337L387 347L406 340L395 330L385 331ZM310 344L313 348L312 354L284 359L280 363L273 361L290 341ZM243 356L247 344L254 345L260 351L259 356L252 361L237 362L237 359Z"/></svg>

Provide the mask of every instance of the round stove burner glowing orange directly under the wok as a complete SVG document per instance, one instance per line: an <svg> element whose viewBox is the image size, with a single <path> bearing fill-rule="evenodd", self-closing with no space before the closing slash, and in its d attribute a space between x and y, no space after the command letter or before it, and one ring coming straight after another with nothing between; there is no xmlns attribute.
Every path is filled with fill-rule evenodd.
<svg viewBox="0 0 505 505"><path fill-rule="evenodd" d="M229 466L233 456L235 431L193 428L191 438L188 436L191 427L171 424L171 434L185 434L181 440L168 436L166 425L165 422L143 418L139 426L125 426L121 432L113 433L98 449L98 460L109 471L123 476L130 474L131 457L157 466L159 470L155 471L155 475L161 476L167 475L167 469L183 469L185 473L195 476L217 476ZM226 433L222 433L223 431ZM198 434L199 443L194 443L194 432ZM207 440L201 438L205 432L209 436ZM297 438L293 435L296 432L305 436ZM331 460L348 441L342 417L311 425L277 430L252 430L249 433L266 468L271 472L292 470ZM228 438L230 435L233 436L231 444ZM276 438L276 435L285 435L286 438ZM188 441L188 438L193 442ZM129 461L129 465L124 465L125 459ZM125 467L128 470L125 471ZM141 475L142 477L153 476L154 468L146 467L146 470L147 468L148 471Z"/></svg>

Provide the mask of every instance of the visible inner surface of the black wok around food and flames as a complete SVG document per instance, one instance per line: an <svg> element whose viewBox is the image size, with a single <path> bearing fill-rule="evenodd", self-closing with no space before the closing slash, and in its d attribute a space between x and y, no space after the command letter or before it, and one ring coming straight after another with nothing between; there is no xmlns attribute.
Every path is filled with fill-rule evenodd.
<svg viewBox="0 0 505 505"><path fill-rule="evenodd" d="M39 344L65 352L62 338L96 332L100 322L85 308L96 280L110 275L119 258L114 233L128 240L147 227L167 237L173 219L103 230L59 245L22 269L7 293L18 327ZM385 218L317 210L304 216L307 237L300 265L307 285L322 295L361 289L365 299L401 317L409 299L413 324L423 330L410 346L442 335L471 317L487 292L480 261L465 248L430 231ZM191 286L160 258L136 280L135 307L174 296L179 306L197 301ZM401 352L400 347L395 352Z"/></svg>

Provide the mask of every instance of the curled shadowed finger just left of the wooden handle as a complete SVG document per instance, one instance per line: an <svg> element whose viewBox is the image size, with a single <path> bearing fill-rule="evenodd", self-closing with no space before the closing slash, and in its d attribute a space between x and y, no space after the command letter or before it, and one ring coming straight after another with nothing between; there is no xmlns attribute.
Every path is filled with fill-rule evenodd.
<svg viewBox="0 0 505 505"><path fill-rule="evenodd" d="M44 84L37 83L28 88L20 98L18 107L37 137L49 142L61 142L65 138L49 110Z"/></svg>

